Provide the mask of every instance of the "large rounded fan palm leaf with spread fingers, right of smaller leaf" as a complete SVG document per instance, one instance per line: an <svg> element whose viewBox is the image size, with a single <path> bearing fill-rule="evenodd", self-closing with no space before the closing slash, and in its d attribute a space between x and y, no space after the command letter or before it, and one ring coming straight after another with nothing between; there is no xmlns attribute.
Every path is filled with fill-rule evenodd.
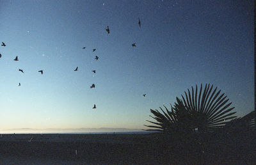
<svg viewBox="0 0 256 165"><path fill-rule="evenodd" d="M197 85L195 95L193 92L193 86L192 96L189 89L188 94L185 91L186 99L182 95L184 105L186 105L186 109L189 113L191 113L193 118L193 127L198 128L198 131L205 131L219 126L221 127L229 120L236 118L236 116L232 116L236 112L229 113L232 111L232 109L234 109L234 107L227 109L232 102L227 104L229 99L226 99L227 96L223 97L225 93L220 95L221 90L216 93L217 88L215 88L213 91L212 89L213 86L210 87L210 84L205 84L205 88L203 90L201 84L198 98L196 95L198 90ZM195 107L194 105L197 105L198 107Z"/></svg>

